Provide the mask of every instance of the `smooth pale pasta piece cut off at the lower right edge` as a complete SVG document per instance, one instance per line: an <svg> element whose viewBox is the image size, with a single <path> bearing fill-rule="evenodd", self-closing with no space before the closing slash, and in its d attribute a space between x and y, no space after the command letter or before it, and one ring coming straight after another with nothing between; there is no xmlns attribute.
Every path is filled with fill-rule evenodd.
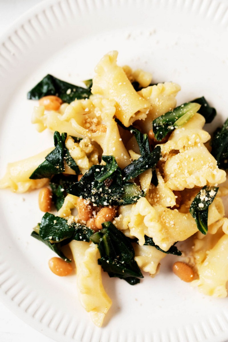
<svg viewBox="0 0 228 342"><path fill-rule="evenodd" d="M213 297L226 297L228 281L228 235L224 234L208 252L198 269L199 279L193 281L199 291Z"/></svg>

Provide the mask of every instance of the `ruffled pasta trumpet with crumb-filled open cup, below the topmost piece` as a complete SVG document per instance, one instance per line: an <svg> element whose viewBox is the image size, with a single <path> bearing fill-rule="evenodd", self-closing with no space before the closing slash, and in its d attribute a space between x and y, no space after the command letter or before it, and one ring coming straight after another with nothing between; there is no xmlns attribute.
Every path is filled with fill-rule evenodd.
<svg viewBox="0 0 228 342"><path fill-rule="evenodd" d="M116 112L114 104L115 101L92 96L89 100L72 102L65 108L64 114L45 112L44 107L35 107L32 123L36 124L39 131L48 128L72 136L88 137L100 145L103 155L114 156L118 165L124 168L131 159L113 119Z"/></svg>

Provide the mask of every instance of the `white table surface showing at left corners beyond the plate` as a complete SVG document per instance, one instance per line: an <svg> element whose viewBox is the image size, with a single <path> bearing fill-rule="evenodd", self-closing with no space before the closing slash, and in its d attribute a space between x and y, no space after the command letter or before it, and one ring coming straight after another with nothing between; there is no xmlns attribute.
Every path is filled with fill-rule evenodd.
<svg viewBox="0 0 228 342"><path fill-rule="evenodd" d="M0 36L11 24L41 0L0 0ZM1 342L53 342L25 324L0 302Z"/></svg>

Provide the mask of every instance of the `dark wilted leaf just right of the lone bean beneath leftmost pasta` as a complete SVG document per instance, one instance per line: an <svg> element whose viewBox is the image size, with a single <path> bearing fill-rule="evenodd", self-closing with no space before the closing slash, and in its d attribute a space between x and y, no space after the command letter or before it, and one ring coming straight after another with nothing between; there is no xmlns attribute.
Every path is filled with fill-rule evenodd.
<svg viewBox="0 0 228 342"><path fill-rule="evenodd" d="M73 183L78 181L77 175L64 175L62 173L56 174L50 181L52 189L52 202L55 208L59 210L62 208L64 199L67 195L66 189Z"/></svg>

